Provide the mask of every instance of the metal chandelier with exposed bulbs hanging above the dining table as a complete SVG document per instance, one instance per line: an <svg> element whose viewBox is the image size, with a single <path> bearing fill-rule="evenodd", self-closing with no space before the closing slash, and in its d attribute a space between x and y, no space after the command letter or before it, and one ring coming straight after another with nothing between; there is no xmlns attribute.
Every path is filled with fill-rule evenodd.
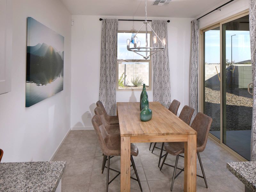
<svg viewBox="0 0 256 192"><path fill-rule="evenodd" d="M166 48L166 41L164 38L163 38L163 40L161 40L159 38L159 36L156 35L156 32L149 25L149 22L147 19L147 0L146 0L146 5L145 5L145 12L146 12L145 21L143 22L143 25L141 26L141 28L144 25L146 26L146 46L140 47L141 41L138 41L138 37L136 36L140 32L141 28L132 37L131 40L130 39L126 40L126 44L127 44L128 51L135 52L147 60L149 58L149 56L153 55L154 53L163 51ZM148 46L148 27L151 28L152 32L154 32L154 34L155 34L155 36L153 36L153 46L152 47ZM133 47L130 47L130 43L132 43L132 41L133 41ZM162 43L162 47L157 47L157 45L156 45L157 41L160 41ZM140 54L140 52L145 52L145 55L142 55L143 53Z"/></svg>

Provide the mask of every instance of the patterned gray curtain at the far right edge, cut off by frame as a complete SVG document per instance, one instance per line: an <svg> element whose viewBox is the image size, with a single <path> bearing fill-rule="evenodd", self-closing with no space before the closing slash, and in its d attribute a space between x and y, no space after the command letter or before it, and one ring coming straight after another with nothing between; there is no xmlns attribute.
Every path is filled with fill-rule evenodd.
<svg viewBox="0 0 256 192"><path fill-rule="evenodd" d="M252 106L252 136L251 136L251 161L256 161L256 1L249 0L249 26L252 59L252 83L253 83L253 106Z"/></svg>

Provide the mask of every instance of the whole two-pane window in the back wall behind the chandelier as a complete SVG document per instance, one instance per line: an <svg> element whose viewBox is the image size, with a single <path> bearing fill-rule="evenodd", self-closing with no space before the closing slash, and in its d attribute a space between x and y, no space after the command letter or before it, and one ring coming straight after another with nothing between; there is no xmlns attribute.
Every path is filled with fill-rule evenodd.
<svg viewBox="0 0 256 192"><path fill-rule="evenodd" d="M137 53L127 50L126 39L131 39L137 31L118 31L117 35L117 90L140 90L143 84L151 89L151 57L145 60ZM141 47L146 46L146 33L136 35L141 41ZM151 46L151 32L148 32L148 42ZM133 46L131 43L130 46ZM142 52L142 54L145 54Z"/></svg>

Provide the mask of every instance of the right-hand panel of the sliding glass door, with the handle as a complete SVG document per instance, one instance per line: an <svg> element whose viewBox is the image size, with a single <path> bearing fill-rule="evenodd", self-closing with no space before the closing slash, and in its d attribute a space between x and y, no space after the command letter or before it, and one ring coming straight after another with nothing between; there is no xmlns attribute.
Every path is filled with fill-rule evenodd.
<svg viewBox="0 0 256 192"><path fill-rule="evenodd" d="M249 16L222 24L222 142L250 160L252 83Z"/></svg>

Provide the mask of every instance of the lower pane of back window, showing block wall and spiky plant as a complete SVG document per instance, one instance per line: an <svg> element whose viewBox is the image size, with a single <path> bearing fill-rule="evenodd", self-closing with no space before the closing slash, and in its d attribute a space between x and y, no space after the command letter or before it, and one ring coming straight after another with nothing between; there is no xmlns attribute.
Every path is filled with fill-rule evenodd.
<svg viewBox="0 0 256 192"><path fill-rule="evenodd" d="M118 88L149 88L149 62L118 62Z"/></svg>

